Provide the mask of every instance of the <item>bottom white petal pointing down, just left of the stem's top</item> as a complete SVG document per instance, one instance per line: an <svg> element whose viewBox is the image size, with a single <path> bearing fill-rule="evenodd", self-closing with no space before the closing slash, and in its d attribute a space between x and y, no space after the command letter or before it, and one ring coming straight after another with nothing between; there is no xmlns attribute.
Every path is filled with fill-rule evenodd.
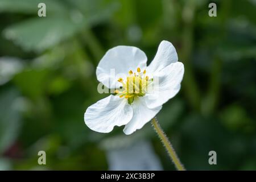
<svg viewBox="0 0 256 182"><path fill-rule="evenodd" d="M134 131L141 129L162 109L162 106L149 109L144 97L138 97L131 106L133 107L133 118L125 125L125 129L123 129L123 133L126 135L130 135Z"/></svg>

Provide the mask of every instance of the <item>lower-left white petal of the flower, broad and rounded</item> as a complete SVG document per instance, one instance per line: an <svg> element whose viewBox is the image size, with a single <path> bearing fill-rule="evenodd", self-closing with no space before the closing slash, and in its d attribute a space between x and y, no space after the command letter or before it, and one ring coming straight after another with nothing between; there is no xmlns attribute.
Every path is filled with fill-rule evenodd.
<svg viewBox="0 0 256 182"><path fill-rule="evenodd" d="M133 109L123 98L110 95L85 111L85 124L94 131L109 133L114 126L126 125L133 117Z"/></svg>

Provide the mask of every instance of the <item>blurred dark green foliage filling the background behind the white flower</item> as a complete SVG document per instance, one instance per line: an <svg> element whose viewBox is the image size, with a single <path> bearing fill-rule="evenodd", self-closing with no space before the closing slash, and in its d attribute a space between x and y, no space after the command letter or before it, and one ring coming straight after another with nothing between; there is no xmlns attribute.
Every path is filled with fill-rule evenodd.
<svg viewBox="0 0 256 182"><path fill-rule="evenodd" d="M108 169L109 147L144 138L174 169L149 123L126 136L90 131L83 119L106 96L95 76L104 53L137 46L152 60L161 40L185 65L180 93L158 114L184 166L256 169L256 2L213 1L209 17L210 2L0 0L0 169Z"/></svg>

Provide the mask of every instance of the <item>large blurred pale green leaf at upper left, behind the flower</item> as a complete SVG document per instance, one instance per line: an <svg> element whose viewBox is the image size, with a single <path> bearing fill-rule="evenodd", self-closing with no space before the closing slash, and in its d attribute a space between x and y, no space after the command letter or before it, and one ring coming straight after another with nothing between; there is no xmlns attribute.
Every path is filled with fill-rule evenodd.
<svg viewBox="0 0 256 182"><path fill-rule="evenodd" d="M3 31L6 39L13 40L25 51L42 52L67 40L84 28L98 24L112 15L115 4L86 7L88 11L71 9L66 13L45 18L32 18L13 24ZM75 7L73 7L75 8Z"/></svg>

